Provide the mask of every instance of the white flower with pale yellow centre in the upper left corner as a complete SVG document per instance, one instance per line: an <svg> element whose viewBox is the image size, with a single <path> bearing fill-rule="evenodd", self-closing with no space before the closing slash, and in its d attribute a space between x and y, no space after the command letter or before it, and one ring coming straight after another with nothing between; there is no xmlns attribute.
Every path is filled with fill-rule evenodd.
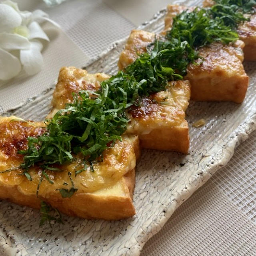
<svg viewBox="0 0 256 256"><path fill-rule="evenodd" d="M0 3L0 80L13 78L22 69L28 75L42 69L40 40L49 41L40 27L45 21L58 26L42 10L20 11L15 2Z"/></svg>

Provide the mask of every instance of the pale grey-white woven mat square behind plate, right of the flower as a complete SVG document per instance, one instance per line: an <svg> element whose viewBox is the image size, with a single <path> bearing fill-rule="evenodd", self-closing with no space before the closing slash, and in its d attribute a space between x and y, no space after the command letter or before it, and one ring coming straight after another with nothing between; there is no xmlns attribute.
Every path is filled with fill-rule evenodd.
<svg viewBox="0 0 256 256"><path fill-rule="evenodd" d="M90 58L135 28L102 0L72 0L44 10Z"/></svg>

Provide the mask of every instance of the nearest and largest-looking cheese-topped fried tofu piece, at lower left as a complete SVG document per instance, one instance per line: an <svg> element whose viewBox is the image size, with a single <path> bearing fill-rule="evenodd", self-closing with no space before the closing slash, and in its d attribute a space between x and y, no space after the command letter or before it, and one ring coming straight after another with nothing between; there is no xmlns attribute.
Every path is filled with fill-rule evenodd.
<svg viewBox="0 0 256 256"><path fill-rule="evenodd" d="M40 200L43 200L64 214L88 219L117 220L135 214L132 196L136 158L140 154L138 136L122 136L122 141L104 151L102 162L93 164L94 172L87 167L75 175L75 170L84 168L79 155L75 162L59 165L61 172L45 170L54 183L44 178L37 196L42 168L34 166L28 170L31 181L20 168L4 171L17 168L23 162L18 151L27 148L28 136L44 132L42 122L26 122L15 116L0 117L0 199L32 208L40 208ZM78 190L70 198L62 198L58 190L71 188L70 175Z"/></svg>

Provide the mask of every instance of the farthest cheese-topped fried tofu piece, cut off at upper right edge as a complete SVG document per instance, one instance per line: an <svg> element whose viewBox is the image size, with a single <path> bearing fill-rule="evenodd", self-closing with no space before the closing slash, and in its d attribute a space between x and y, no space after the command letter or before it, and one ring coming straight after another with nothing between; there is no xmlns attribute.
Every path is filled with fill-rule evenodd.
<svg viewBox="0 0 256 256"><path fill-rule="evenodd" d="M213 0L204 0L204 7L211 7L215 4ZM245 14L249 21L238 25L237 33L239 39L244 42L244 60L256 60L256 14Z"/></svg>

